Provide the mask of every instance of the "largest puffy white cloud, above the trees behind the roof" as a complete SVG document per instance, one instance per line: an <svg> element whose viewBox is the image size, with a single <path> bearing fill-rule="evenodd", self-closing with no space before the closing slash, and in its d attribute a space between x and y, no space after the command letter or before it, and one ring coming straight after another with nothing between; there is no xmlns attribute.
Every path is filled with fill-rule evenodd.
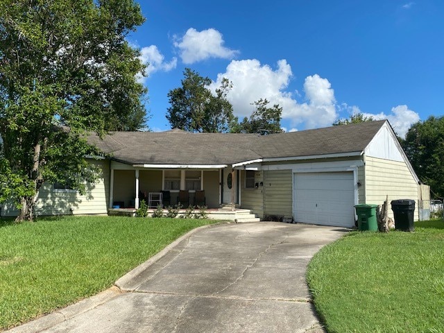
<svg viewBox="0 0 444 333"><path fill-rule="evenodd" d="M287 60L279 60L278 67L272 69L261 65L259 60L232 60L225 73L218 74L212 89L221 84L222 78L228 78L233 88L228 99L233 105L234 114L248 117L253 111L250 103L258 99L267 99L282 108L282 119L289 119L291 126L305 123L306 128L330 126L336 119L334 90L326 78L318 74L305 78L304 90L306 103L298 103L288 87L292 77ZM296 93L295 93L296 94Z"/></svg>

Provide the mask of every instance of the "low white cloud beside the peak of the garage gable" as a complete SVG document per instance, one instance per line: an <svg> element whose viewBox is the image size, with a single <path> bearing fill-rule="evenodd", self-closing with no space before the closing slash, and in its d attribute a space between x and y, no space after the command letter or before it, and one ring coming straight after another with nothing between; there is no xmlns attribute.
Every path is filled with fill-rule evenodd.
<svg viewBox="0 0 444 333"><path fill-rule="evenodd" d="M388 119L393 130L400 137L405 137L412 123L420 121L419 114L410 110L407 105L398 105L391 108L391 114L385 114L384 112L378 114L364 113L364 116L371 116L375 120Z"/></svg>

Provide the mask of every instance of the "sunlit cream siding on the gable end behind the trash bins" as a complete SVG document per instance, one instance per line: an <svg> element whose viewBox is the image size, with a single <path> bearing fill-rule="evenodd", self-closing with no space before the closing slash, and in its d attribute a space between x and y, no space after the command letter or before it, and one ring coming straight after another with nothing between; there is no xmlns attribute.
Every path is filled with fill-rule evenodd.
<svg viewBox="0 0 444 333"><path fill-rule="evenodd" d="M366 203L382 205L388 201L412 199L416 201L415 220L418 219L418 184L405 162L366 157ZM393 212L388 210L393 218Z"/></svg>

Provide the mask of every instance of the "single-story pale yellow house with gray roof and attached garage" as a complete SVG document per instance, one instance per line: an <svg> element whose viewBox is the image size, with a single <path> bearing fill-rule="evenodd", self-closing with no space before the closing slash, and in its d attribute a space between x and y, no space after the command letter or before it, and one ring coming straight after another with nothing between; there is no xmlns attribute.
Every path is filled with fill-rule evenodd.
<svg viewBox="0 0 444 333"><path fill-rule="evenodd" d="M112 156L95 162L101 182L87 196L46 185L39 214L107 214L162 190L171 205L180 189L193 203L203 189L210 209L233 203L262 219L352 227L358 203L427 196L388 121L264 136L116 132L91 142Z"/></svg>

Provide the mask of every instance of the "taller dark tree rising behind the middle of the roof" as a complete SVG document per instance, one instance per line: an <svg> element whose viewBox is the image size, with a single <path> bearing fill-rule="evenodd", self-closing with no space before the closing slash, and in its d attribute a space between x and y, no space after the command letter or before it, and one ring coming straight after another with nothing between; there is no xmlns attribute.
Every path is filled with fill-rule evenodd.
<svg viewBox="0 0 444 333"><path fill-rule="evenodd" d="M212 94L210 78L200 76L189 68L184 71L182 87L168 93L167 119L171 128L189 132L224 133L230 130L234 119L232 105L227 99L232 84L223 78L221 87Z"/></svg>

